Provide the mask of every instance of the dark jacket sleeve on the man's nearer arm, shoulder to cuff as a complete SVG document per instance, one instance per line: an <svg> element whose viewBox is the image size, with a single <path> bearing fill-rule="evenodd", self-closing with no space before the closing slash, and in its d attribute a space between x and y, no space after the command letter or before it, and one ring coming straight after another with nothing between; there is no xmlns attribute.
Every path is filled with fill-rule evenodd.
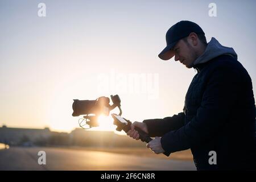
<svg viewBox="0 0 256 182"><path fill-rule="evenodd" d="M238 98L240 78L230 69L218 68L209 76L195 117L179 130L161 138L165 151L176 152L199 146L217 134Z"/></svg>

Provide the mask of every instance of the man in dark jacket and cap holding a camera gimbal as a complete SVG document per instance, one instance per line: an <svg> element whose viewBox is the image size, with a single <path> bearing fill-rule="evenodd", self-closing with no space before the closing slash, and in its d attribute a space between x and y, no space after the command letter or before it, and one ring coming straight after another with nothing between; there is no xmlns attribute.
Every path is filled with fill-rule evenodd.
<svg viewBox="0 0 256 182"><path fill-rule="evenodd" d="M137 126L155 137L147 147L156 154L191 148L198 170L255 169L253 87L234 49L214 38L207 43L204 31L189 21L172 26L166 42L160 59L175 56L175 61L197 70L183 112L134 122L127 135L139 139ZM216 162L209 162L215 154Z"/></svg>

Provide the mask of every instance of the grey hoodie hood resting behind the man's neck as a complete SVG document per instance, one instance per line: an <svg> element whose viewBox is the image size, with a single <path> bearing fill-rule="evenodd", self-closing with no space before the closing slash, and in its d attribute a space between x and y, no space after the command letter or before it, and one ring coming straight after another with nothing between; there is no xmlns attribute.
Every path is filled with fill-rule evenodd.
<svg viewBox="0 0 256 182"><path fill-rule="evenodd" d="M237 59L237 53L234 51L233 48L222 46L218 42L218 40L216 40L215 38L212 38L208 43L207 48L205 49L203 55L199 56L194 61L194 65L207 63L209 60L212 60L214 57L217 57L220 55L231 55L235 59Z"/></svg>

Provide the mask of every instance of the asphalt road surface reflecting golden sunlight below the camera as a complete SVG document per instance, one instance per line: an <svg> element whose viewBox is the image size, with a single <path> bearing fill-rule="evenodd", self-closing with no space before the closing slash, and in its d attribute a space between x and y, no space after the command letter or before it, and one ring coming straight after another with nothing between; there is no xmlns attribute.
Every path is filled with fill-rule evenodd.
<svg viewBox="0 0 256 182"><path fill-rule="evenodd" d="M46 152L46 165L38 164L39 151ZM184 160L147 158L100 151L65 148L10 147L0 150L0 170L196 170Z"/></svg>

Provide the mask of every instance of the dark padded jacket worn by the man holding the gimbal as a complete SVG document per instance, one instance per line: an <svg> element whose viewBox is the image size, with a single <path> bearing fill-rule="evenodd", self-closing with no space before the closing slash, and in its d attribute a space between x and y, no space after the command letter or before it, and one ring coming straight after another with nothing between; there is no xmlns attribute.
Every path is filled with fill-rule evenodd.
<svg viewBox="0 0 256 182"><path fill-rule="evenodd" d="M255 169L255 101L241 63L221 55L197 64L183 113L147 119L151 137L167 152L191 148L197 169ZM210 151L217 164L210 165Z"/></svg>

